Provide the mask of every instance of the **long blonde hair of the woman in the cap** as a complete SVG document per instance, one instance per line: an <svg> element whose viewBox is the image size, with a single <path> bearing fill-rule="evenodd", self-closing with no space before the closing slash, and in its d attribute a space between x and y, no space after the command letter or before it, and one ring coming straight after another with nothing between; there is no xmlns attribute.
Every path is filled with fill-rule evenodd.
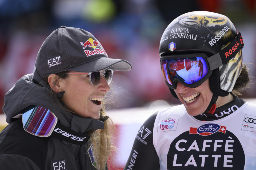
<svg viewBox="0 0 256 170"><path fill-rule="evenodd" d="M57 73L58 79L62 78L65 79L68 77L69 71L63 71L61 73ZM58 79L55 81L55 83L58 81ZM54 96L54 103L65 110L67 110L70 113L74 113L69 108L66 108L63 106L62 102L59 100L57 94L50 88L48 77L44 79L44 81L48 84L49 89L51 90L51 94ZM54 84L55 86L55 84ZM65 95L65 94L64 94ZM75 114L75 113L74 113ZM106 114L106 104L102 102L102 108L100 110L100 118L99 120L104 122L104 129L98 129L96 131L89 130L89 134L91 138L89 141L93 145L93 150L95 152L96 158L94 158L95 162L97 162L97 169L99 170L105 170L107 161L109 160L110 163L113 163L113 151L116 151L117 148L113 144L113 137L116 133L114 122L111 120L109 116Z"/></svg>

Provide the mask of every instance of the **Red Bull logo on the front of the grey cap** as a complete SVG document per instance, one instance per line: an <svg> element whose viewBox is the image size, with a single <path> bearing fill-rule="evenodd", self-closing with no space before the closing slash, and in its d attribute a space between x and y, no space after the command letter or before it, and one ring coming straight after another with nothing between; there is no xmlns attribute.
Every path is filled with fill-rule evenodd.
<svg viewBox="0 0 256 170"><path fill-rule="evenodd" d="M91 47L91 48L95 48L94 50L84 50L85 54L87 57L95 55L95 54L106 54L105 50L103 49L103 47L101 46L101 44L95 40L93 40L92 38L89 38L85 43L80 42L81 45L83 46L83 49L85 49L86 47ZM97 48L97 47L101 47Z"/></svg>

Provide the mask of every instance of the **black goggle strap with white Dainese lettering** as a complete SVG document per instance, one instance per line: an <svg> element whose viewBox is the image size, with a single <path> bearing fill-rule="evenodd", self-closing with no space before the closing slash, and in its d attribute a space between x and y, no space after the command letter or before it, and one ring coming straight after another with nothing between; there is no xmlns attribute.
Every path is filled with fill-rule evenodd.
<svg viewBox="0 0 256 170"><path fill-rule="evenodd" d="M63 141L73 143L76 145L83 145L90 138L89 133L86 133L86 134L78 133L78 132L71 130L68 127L60 124L59 122L57 122L57 124L52 132L52 135L57 138L62 139Z"/></svg>

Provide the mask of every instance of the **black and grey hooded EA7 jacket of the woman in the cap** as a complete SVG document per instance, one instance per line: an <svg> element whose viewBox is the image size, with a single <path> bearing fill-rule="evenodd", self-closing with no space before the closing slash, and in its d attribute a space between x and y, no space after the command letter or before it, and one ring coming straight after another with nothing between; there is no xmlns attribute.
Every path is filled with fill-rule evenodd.
<svg viewBox="0 0 256 170"><path fill-rule="evenodd" d="M53 136L37 137L23 129L22 120L13 118L22 109L39 105L53 112L60 124L78 133L104 128L102 121L79 117L57 107L46 83L39 86L31 78L32 74L23 76L5 95L3 112L9 125L0 133L0 169L96 169L90 157L93 154L88 152L93 150L90 140L84 145L76 145Z"/></svg>

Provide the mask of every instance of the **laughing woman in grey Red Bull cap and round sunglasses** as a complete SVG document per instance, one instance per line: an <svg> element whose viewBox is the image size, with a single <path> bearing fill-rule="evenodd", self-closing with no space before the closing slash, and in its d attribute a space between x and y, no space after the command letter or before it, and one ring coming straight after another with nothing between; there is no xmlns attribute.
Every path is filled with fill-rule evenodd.
<svg viewBox="0 0 256 170"><path fill-rule="evenodd" d="M113 70L130 69L129 62L108 58L83 29L53 31L34 73L5 95L9 125L0 134L1 169L107 169L113 122L104 97Z"/></svg>

